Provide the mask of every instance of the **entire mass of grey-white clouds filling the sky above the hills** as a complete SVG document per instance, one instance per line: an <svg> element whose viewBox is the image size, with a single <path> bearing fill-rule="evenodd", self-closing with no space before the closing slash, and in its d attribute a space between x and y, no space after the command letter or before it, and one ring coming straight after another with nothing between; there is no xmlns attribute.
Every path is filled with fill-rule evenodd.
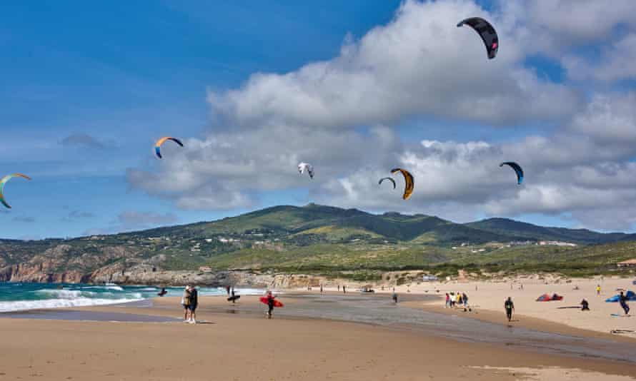
<svg viewBox="0 0 636 381"><path fill-rule="evenodd" d="M583 101L580 88L538 78L526 67L539 51L577 57L577 46L606 41L620 24L633 26L625 16L631 1L609 10L583 3L507 1L488 14L472 1L406 1L389 24L345 39L333 59L289 73L254 73L239 88L210 92L206 135L187 139L169 160L129 168L129 185L182 209L254 208L262 192L300 188L314 201L377 211L456 220L567 214L588 227L630 228L634 94L605 91ZM486 58L474 31L454 26L466 16L496 25L497 59ZM620 58L617 52L631 46L629 36L625 41L609 44L599 67L622 70L611 53ZM616 78L631 75L618 72ZM396 126L417 118L515 128L515 137L404 140ZM541 123L554 128L525 133L527 124ZM298 175L300 161L314 166L313 181ZM522 164L523 186L510 168L499 167L502 161ZM377 184L395 166L415 176L407 202Z"/></svg>

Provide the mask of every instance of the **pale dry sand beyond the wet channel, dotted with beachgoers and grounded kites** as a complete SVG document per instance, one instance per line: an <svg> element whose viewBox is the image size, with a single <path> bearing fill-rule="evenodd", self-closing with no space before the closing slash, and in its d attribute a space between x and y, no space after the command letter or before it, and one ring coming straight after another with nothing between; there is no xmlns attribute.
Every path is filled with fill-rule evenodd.
<svg viewBox="0 0 636 381"><path fill-rule="evenodd" d="M636 302L630 303L631 317L615 317L612 314L623 315L623 310L618 303L605 303L605 299L618 293L617 289L635 290L632 279L572 279L571 283L555 283L547 280L516 279L501 282L472 281L472 282L448 282L448 283L420 283L419 285L403 285L396 288L398 293L439 295L439 299L429 303L406 303L411 307L425 308L439 313L449 313L444 309L444 293L466 293L469 297L469 305L473 313L463 313L462 310L453 310L452 313L462 316L476 317L501 324L507 324L504 311L504 301L510 296L515 303L515 317L512 323L535 329L555 332L579 332L590 330L610 335L611 330L636 331ZM596 286L600 284L601 294L596 295ZM512 288L511 288L512 285ZM523 289L521 289L523 285ZM574 290L575 287L579 290ZM439 290L439 293L437 293ZM385 290L388 293L388 290ZM551 302L535 301L539 295L563 295L563 300ZM559 307L577 306L582 299L590 303L590 311L583 312L577 309ZM567 327L576 330L568 331ZM636 334L624 334L622 337L631 337L636 340Z"/></svg>

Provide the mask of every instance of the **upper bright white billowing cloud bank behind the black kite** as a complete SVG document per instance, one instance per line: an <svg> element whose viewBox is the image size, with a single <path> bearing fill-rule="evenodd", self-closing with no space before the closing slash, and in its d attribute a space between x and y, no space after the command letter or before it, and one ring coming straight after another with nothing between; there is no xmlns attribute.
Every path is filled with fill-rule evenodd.
<svg viewBox="0 0 636 381"><path fill-rule="evenodd" d="M209 101L220 121L243 127L352 128L412 115L520 123L575 108L573 91L522 68L513 25L500 23L507 45L497 59L485 59L479 36L454 26L477 15L497 20L469 1L407 1L386 26L345 41L334 59L290 73L256 73L242 88L210 93Z"/></svg>

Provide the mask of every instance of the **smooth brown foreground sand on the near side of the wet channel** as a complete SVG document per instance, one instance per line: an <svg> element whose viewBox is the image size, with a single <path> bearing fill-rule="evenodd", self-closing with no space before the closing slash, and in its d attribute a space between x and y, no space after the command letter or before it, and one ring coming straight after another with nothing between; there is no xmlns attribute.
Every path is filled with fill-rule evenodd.
<svg viewBox="0 0 636 381"><path fill-rule="evenodd" d="M384 326L294 315L379 303L359 294L281 295L272 320L256 297L201 300L201 324L1 318L0 380L633 380L636 362L590 360ZM339 304L337 304L339 303ZM329 307L322 307L329 306ZM287 309L287 310L286 310ZM285 310L285 313L283 313ZM178 298L75 312L177 319ZM394 307L393 313L417 312ZM64 313L64 311L61 311ZM437 314L436 314L437 315ZM439 315L444 317L444 315ZM452 317L447 317L451 319ZM528 377L528 378L524 378Z"/></svg>

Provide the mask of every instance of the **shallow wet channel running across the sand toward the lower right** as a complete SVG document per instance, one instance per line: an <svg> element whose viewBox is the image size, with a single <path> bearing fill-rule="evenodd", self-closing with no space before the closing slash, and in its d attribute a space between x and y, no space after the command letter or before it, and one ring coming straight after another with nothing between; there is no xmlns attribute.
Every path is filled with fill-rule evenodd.
<svg viewBox="0 0 636 381"><path fill-rule="evenodd" d="M406 330L418 334L432 335L457 342L480 342L495 345L511 345L538 352L560 353L570 356L591 356L607 360L622 360L636 364L636 353L630 345L634 340L619 335L604 335L597 332L577 330L565 325L540 321L538 325L515 323L502 324L501 321L462 316L457 311L439 313L437 310L419 308L423 303L431 303L422 295L410 295L399 305L387 302L383 295L347 296L307 293L282 295L286 308L276 309L274 315L279 320L307 320L308 322L349 322L370 327ZM266 306L257 297L246 296L242 303L228 303L225 298L207 296L201 299L200 312L214 317L232 315L237 318L261 318ZM413 308L415 306L415 308ZM121 313L134 315L155 315L179 320L182 310L179 298L155 298L152 305L122 304L116 306L95 306L69 310L73 313ZM58 311L59 317L64 313ZM86 320L92 320L88 317ZM585 342L582 339L585 338ZM615 345L612 345L614 343Z"/></svg>

